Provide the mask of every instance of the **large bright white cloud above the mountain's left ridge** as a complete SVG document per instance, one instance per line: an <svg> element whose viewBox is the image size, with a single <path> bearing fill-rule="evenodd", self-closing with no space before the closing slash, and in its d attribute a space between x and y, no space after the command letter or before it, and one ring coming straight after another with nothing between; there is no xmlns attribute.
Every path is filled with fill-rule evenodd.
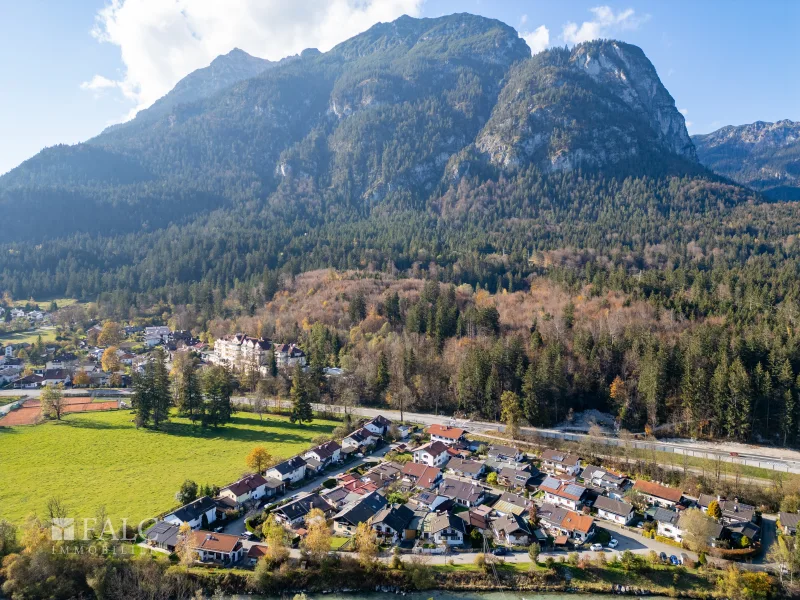
<svg viewBox="0 0 800 600"><path fill-rule="evenodd" d="M124 76L95 75L87 90L119 88L136 111L234 47L278 60L329 50L379 21L416 16L423 0L111 0L92 35L119 47Z"/></svg>

